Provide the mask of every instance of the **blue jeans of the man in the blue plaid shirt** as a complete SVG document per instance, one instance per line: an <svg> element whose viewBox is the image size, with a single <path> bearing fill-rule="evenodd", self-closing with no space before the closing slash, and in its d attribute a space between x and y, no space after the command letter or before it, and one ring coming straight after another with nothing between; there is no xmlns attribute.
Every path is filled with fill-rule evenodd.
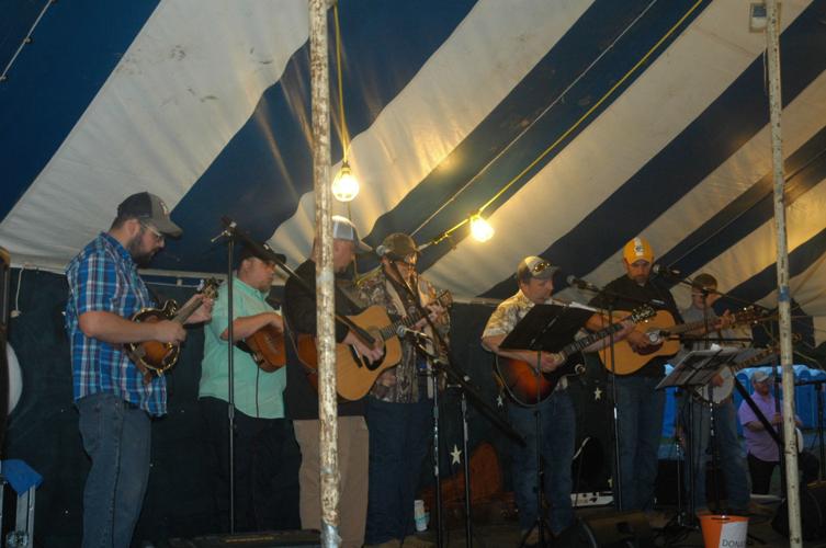
<svg viewBox="0 0 826 548"><path fill-rule="evenodd" d="M83 548L128 547L149 479L149 415L111 393L77 402L92 467L83 489Z"/></svg>

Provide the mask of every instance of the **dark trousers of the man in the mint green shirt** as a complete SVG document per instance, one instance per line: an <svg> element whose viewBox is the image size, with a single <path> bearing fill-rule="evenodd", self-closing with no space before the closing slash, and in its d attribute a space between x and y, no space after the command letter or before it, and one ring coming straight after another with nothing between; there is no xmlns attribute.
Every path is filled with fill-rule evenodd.
<svg viewBox="0 0 826 548"><path fill-rule="evenodd" d="M227 402L201 398L217 533L229 530L229 419ZM235 411L235 530L299 529L301 450L293 423Z"/></svg>

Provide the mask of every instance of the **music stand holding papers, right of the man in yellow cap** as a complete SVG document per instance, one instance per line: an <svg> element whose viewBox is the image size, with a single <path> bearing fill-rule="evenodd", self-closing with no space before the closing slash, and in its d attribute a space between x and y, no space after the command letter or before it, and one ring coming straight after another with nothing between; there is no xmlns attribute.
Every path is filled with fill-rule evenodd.
<svg viewBox="0 0 826 548"><path fill-rule="evenodd" d="M691 398L691 393L698 387L702 387L712 381L715 375L723 370L732 359L739 355L742 349L716 347L712 350L695 350L686 354L677 363L674 370L657 385L656 390L675 387L682 389L686 398ZM689 400L689 406L692 403ZM688 415L688 436L686 436L686 454L688 458L689 471L689 490L688 490L688 520L689 524L694 524L694 447L693 447L693 410L689 407ZM700 455L697 455L698 463ZM698 465L699 466L699 465ZM678 478L678 481L680 479ZM678 501L679 502L679 501ZM720 501L717 501L717 505Z"/></svg>

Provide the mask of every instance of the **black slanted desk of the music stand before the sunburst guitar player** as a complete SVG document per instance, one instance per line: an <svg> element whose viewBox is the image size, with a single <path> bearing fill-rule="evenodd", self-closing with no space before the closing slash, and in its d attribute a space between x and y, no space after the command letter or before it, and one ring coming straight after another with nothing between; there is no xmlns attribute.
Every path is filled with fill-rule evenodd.
<svg viewBox="0 0 826 548"><path fill-rule="evenodd" d="M575 306L536 305L499 344L503 350L556 352L574 341L593 310Z"/></svg>

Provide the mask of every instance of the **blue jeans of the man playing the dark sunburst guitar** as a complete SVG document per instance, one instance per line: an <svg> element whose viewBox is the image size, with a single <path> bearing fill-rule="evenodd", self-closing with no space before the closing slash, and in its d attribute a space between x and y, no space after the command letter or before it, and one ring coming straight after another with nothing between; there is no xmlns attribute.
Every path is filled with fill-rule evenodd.
<svg viewBox="0 0 826 548"><path fill-rule="evenodd" d="M535 411L540 413L540 439L536 443ZM544 463L545 498L551 507L550 526L558 534L574 524L570 505L570 467L576 443L574 403L567 390L554 391L535 408L508 404L510 424L525 439L525 446L512 444L511 473L519 509L519 526L531 528L536 522L536 447Z"/></svg>

